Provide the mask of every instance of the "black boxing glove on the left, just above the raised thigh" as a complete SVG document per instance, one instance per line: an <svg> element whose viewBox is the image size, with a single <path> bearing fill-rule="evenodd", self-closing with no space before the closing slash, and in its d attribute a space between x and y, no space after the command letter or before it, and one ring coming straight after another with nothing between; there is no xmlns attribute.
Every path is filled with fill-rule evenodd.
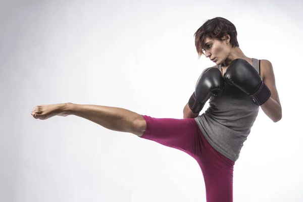
<svg viewBox="0 0 303 202"><path fill-rule="evenodd" d="M200 112L207 100L213 94L219 95L224 90L224 79L216 67L206 69L198 79L195 91L188 101L188 106L193 113Z"/></svg>

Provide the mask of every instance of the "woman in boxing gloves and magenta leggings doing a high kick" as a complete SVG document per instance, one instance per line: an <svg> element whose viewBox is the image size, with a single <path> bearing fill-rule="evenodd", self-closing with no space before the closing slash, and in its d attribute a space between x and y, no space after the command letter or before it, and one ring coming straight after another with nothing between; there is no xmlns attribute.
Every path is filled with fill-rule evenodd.
<svg viewBox="0 0 303 202"><path fill-rule="evenodd" d="M72 103L37 106L31 115L41 120L75 115L180 149L199 164L207 201L232 201L233 166L260 106L274 122L282 117L273 67L267 60L246 57L235 26L224 18L208 20L194 36L199 57L205 55L216 66L198 78L183 119L157 119L121 108ZM210 107L199 116L209 99Z"/></svg>

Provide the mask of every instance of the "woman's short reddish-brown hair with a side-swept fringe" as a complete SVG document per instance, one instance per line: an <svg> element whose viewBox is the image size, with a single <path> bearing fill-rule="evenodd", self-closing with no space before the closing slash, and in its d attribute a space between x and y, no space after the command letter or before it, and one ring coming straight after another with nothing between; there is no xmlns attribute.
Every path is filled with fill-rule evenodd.
<svg viewBox="0 0 303 202"><path fill-rule="evenodd" d="M210 20L207 20L195 33L195 46L199 58L204 55L203 48L205 45L206 37L215 38L218 40L223 40L222 37L225 34L230 35L230 44L232 47L239 46L237 40L237 30L234 24L228 21L225 18L216 17Z"/></svg>

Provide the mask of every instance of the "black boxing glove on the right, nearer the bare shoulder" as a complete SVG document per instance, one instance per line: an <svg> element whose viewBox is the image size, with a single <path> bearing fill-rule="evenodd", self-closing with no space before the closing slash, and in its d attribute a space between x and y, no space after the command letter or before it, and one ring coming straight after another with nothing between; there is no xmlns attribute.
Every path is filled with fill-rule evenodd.
<svg viewBox="0 0 303 202"><path fill-rule="evenodd" d="M246 60L233 60L224 74L226 83L235 85L251 98L256 105L263 105L270 97L269 88L258 72Z"/></svg>

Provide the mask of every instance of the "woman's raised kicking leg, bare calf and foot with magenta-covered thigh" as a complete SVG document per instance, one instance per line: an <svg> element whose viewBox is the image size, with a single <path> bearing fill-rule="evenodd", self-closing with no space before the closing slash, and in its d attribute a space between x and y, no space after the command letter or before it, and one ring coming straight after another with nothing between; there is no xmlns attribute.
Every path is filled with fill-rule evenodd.
<svg viewBox="0 0 303 202"><path fill-rule="evenodd" d="M75 115L107 129L133 133L193 156L200 149L198 126L194 119L157 119L116 107L76 105L72 103L37 106L31 112L35 119Z"/></svg>

